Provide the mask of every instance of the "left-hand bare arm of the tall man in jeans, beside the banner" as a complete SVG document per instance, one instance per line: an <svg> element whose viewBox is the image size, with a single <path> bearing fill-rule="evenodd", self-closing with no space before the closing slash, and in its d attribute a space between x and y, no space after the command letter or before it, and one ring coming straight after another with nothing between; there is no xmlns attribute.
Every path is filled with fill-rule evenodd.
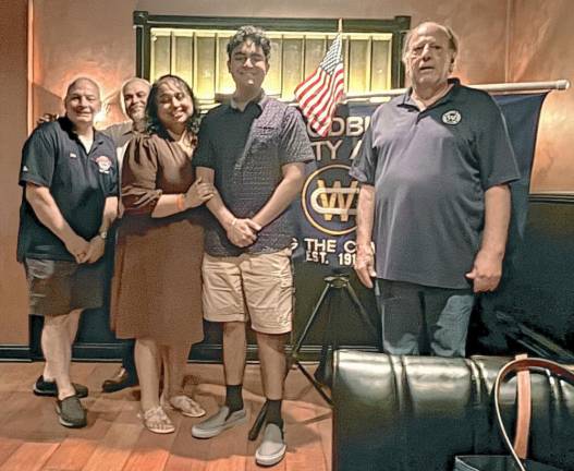
<svg viewBox="0 0 574 471"><path fill-rule="evenodd" d="M357 254L355 271L367 288L373 288L375 254L373 252L373 222L375 219L375 186L362 184L357 204Z"/></svg>

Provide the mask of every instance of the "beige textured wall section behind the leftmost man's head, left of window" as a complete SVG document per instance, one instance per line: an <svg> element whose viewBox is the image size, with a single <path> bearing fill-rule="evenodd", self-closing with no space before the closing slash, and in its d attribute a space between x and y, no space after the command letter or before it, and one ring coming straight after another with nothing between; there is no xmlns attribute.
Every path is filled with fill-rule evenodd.
<svg viewBox="0 0 574 471"><path fill-rule="evenodd" d="M135 3L34 1L34 116L62 111L65 86L78 75L88 75L111 104L109 121L125 119L119 88L135 72Z"/></svg>

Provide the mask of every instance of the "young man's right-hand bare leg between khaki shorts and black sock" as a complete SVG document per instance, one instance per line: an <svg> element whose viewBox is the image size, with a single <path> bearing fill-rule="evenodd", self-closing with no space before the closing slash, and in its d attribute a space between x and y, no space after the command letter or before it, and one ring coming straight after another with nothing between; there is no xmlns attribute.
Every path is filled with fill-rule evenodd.
<svg viewBox="0 0 574 471"><path fill-rule="evenodd" d="M257 333L261 377L267 399L280 400L283 398L286 367L286 334L270 335Z"/></svg>

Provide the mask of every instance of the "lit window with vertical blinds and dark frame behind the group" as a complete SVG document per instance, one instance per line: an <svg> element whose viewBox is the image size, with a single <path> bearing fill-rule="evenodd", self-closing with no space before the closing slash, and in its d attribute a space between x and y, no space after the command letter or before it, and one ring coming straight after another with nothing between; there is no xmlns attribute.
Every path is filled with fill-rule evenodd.
<svg viewBox="0 0 574 471"><path fill-rule="evenodd" d="M407 17L399 19L395 22L353 20L349 31L343 27L347 94L383 92L402 85L399 43ZM150 81L167 73L180 75L193 87L200 105L208 108L218 96L234 89L227 68L229 38L237 25L256 24L264 27L271 39L265 90L270 96L290 101L295 87L315 71L334 39L335 22L259 20L150 17L146 12L135 12L134 23L139 28L139 75ZM225 23L229 27L220 27Z"/></svg>

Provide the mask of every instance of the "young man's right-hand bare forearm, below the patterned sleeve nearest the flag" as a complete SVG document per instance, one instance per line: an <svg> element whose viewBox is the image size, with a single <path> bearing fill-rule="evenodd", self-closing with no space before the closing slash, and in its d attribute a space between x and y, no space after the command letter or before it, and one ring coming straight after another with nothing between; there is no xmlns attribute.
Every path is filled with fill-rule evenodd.
<svg viewBox="0 0 574 471"><path fill-rule="evenodd" d="M260 227L267 226L283 213L301 193L305 183L305 164L293 162L282 167L283 180L261 209L253 217Z"/></svg>

